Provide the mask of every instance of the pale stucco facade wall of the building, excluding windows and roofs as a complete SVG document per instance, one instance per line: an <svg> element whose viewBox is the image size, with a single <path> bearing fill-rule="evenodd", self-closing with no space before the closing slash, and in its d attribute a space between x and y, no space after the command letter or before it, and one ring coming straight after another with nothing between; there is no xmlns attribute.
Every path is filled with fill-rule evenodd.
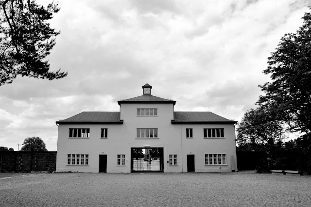
<svg viewBox="0 0 311 207"><path fill-rule="evenodd" d="M157 108L157 116L137 116L137 108ZM99 155L107 155L107 173L131 172L131 148L164 149L164 172L187 172L187 154L195 155L195 172L237 171L233 124L172 124L173 103L121 104L123 124L60 124L56 171L99 172ZM89 138L69 138L69 128L89 128ZM101 138L101 128L108 137ZM157 128L158 138L137 138L137 128ZM193 138L186 138L186 128ZM225 138L204 138L204 128L224 128ZM226 154L226 165L205 165L205 154ZM89 165L67 165L68 154L88 154ZM125 154L125 166L117 165L117 154ZM169 165L169 154L177 154L177 165Z"/></svg>

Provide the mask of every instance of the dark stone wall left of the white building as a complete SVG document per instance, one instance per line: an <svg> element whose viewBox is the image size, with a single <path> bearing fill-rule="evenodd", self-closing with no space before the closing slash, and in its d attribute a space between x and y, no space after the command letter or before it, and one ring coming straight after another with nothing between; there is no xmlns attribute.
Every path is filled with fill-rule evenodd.
<svg viewBox="0 0 311 207"><path fill-rule="evenodd" d="M0 151L0 172L56 170L56 152Z"/></svg>

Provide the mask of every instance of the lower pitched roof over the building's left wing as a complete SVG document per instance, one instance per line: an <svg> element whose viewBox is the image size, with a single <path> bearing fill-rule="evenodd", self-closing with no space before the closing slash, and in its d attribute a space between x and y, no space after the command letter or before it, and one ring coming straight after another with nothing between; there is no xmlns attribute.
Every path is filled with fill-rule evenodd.
<svg viewBox="0 0 311 207"><path fill-rule="evenodd" d="M58 124L71 123L105 123L105 124L122 124L120 112L105 111L84 111L64 120L56 121Z"/></svg>

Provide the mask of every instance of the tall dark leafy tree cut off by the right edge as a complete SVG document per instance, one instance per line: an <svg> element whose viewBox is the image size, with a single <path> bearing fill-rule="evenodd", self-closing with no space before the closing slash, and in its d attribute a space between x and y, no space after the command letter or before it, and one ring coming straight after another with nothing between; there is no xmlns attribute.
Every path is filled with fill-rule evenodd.
<svg viewBox="0 0 311 207"><path fill-rule="evenodd" d="M307 134L310 139L311 13L305 13L302 19L302 27L285 34L268 58L263 73L271 74L272 82L259 86L265 95L259 97L258 104L269 108L289 131Z"/></svg>

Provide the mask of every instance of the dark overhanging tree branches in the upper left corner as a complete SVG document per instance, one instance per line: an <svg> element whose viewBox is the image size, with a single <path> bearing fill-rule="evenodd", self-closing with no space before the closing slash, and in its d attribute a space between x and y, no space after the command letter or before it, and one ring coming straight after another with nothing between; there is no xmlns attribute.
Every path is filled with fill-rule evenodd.
<svg viewBox="0 0 311 207"><path fill-rule="evenodd" d="M44 7L35 0L0 0L0 86L19 74L49 80L67 76L60 70L49 72L45 59L60 33L47 20L58 11L53 2Z"/></svg>

